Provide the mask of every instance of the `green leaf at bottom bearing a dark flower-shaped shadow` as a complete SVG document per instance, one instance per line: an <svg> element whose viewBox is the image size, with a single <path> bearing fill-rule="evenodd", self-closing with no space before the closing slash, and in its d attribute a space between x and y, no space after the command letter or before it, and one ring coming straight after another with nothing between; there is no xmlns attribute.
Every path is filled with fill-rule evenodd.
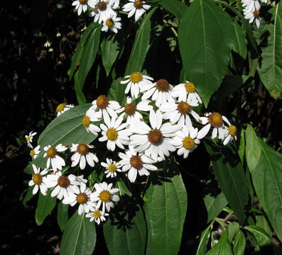
<svg viewBox="0 0 282 255"><path fill-rule="evenodd" d="M146 221L140 205L126 188L117 182L120 201L112 220L104 224L104 238L110 254L144 254L146 248ZM118 217L116 217L118 215Z"/></svg>

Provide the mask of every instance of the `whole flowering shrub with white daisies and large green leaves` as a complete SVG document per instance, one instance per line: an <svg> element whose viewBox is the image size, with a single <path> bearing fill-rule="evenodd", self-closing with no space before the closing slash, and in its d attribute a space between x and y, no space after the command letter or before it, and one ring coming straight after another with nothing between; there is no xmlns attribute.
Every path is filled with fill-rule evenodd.
<svg viewBox="0 0 282 255"><path fill-rule="evenodd" d="M111 254L178 254L191 210L182 175L192 176L190 154L198 147L210 154L221 191L203 196L207 219L201 223L197 254L244 254L249 236L256 247L271 244L269 228L249 220L248 215L263 215L253 207L254 192L263 221L281 239L281 154L256 137L251 125L234 125L230 120L237 113L223 115L212 106L249 82L256 70L272 96L281 94L279 4L77 0L72 5L78 16L93 17L68 72L79 105L61 103L34 149L36 132L26 135L32 161L25 171L32 176L25 203L39 192L38 225L58 203L60 253L92 254L95 228L103 225ZM261 18L260 8L272 18ZM262 23L270 35L260 53L260 36L255 36ZM160 40L170 43L163 55L175 57L178 74L160 77L153 71ZM112 84L107 96L87 103L82 89L99 55ZM165 64L169 69L170 62Z"/></svg>

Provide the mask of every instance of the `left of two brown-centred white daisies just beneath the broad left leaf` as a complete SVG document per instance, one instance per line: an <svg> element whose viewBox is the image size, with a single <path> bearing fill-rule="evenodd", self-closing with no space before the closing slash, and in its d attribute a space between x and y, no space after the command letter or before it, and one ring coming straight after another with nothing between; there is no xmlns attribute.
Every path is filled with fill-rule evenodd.
<svg viewBox="0 0 282 255"><path fill-rule="evenodd" d="M57 152L65 152L67 147L65 145L57 145L56 147L51 147L51 145L45 146L43 148L45 150L45 154L43 157L48 157L47 159L47 168L50 167L50 164L52 165L53 171L62 170L62 166L65 166L65 160L57 155Z"/></svg>

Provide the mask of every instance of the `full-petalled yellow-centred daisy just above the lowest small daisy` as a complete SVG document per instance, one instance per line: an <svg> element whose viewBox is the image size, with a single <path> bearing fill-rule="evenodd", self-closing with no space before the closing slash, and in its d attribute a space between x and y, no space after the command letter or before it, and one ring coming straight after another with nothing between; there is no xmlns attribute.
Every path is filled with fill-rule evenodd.
<svg viewBox="0 0 282 255"><path fill-rule="evenodd" d="M95 183L94 188L95 191L90 194L90 198L92 202L97 202L97 208L99 209L102 204L102 212L105 211L105 208L109 212L111 208L114 208L114 202L119 201L119 196L114 193L119 192L119 188L112 188L113 183L107 184L103 183Z"/></svg>

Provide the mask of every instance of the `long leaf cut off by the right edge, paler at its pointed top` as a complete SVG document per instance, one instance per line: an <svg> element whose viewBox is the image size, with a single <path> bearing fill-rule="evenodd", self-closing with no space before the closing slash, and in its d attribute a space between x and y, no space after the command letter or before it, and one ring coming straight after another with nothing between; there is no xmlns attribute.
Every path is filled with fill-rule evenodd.
<svg viewBox="0 0 282 255"><path fill-rule="evenodd" d="M278 238L282 240L282 155L246 129L246 162L254 189Z"/></svg>

